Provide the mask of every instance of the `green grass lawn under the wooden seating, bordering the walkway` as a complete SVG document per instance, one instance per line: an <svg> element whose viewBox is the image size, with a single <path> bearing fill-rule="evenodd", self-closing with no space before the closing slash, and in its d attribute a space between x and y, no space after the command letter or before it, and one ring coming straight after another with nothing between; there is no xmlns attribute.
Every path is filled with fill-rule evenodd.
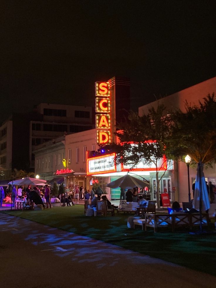
<svg viewBox="0 0 216 288"><path fill-rule="evenodd" d="M53 207L40 211L3 211L9 215L87 236L145 255L216 276L216 234L190 235L185 230L154 233L127 228L127 215L87 217L84 206ZM212 231L214 231L212 225Z"/></svg>

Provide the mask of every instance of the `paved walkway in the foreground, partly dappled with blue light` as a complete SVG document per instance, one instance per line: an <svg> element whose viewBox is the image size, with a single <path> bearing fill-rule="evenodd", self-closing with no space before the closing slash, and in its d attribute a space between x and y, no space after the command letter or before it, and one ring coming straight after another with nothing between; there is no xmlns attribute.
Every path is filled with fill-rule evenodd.
<svg viewBox="0 0 216 288"><path fill-rule="evenodd" d="M0 213L1 288L216 287L216 277Z"/></svg>

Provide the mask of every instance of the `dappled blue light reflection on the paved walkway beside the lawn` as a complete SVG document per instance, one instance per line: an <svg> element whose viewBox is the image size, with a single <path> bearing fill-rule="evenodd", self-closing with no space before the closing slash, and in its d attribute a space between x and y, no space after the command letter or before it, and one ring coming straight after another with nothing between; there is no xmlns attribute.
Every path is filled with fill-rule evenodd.
<svg viewBox="0 0 216 288"><path fill-rule="evenodd" d="M16 228L16 230L13 230ZM0 233L10 230L11 234L23 235L23 240L38 246L40 251L50 250L58 257L68 257L70 261L95 262L97 268L114 266L119 261L136 264L166 264L178 267L163 260L141 255L131 250L108 244L92 238L38 224L26 219L0 214ZM25 237L24 233L28 236Z"/></svg>

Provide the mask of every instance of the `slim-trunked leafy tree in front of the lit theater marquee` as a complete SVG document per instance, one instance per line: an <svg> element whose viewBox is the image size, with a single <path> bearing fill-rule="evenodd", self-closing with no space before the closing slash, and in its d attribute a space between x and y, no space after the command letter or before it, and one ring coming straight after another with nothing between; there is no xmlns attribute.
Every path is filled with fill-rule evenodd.
<svg viewBox="0 0 216 288"><path fill-rule="evenodd" d="M115 161L131 165L131 169L139 162L154 164L156 170L156 199L160 208L159 183L165 171L159 176L164 163L172 159L172 149L167 145L170 133L170 117L164 117L166 107L158 105L157 109L150 108L147 114L139 116L130 112L128 121L118 124L120 131L116 135L119 144L113 145L112 149L117 152ZM166 154L166 157L164 156ZM158 165L159 160L162 163Z"/></svg>

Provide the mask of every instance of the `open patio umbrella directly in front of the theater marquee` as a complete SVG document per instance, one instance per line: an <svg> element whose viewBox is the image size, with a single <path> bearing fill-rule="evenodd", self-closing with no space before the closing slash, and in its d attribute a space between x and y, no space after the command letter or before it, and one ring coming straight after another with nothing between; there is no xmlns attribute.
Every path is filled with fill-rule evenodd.
<svg viewBox="0 0 216 288"><path fill-rule="evenodd" d="M109 188L123 188L123 189L130 189L134 187L143 188L144 186L149 185L148 182L142 181L136 177L133 177L129 174L126 174L119 179L110 182L107 184Z"/></svg>

